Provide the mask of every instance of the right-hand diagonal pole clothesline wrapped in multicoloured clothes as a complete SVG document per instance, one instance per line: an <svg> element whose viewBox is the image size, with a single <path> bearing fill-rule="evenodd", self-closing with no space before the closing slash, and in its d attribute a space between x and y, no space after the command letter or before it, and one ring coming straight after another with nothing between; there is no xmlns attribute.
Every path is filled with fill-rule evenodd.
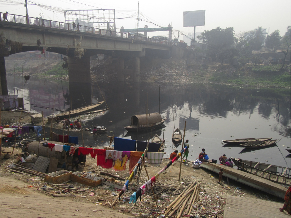
<svg viewBox="0 0 291 218"><path fill-rule="evenodd" d="M188 149L188 146L186 146L184 149L182 149L178 155L182 158L182 154ZM177 157L174 157L172 161L170 161L163 169L161 169L157 174L155 174L151 179L148 180L148 182L144 183L137 191L135 191L129 200L129 203L133 202L136 203L136 200L139 198L141 200L141 195L143 195L146 191L150 190L152 188L153 182L156 184L156 179L158 179L159 175L164 172L166 169L168 169L173 162L177 160ZM123 189L123 188L122 188Z"/></svg>

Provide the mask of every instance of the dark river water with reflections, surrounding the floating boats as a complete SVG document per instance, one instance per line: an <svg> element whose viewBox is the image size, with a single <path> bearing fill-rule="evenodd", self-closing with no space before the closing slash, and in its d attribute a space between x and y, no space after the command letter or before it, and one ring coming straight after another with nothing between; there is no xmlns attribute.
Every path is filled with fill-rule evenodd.
<svg viewBox="0 0 291 218"><path fill-rule="evenodd" d="M26 109L32 112L44 111L45 116L51 115L52 109L30 104L65 110L71 106L74 109L105 99L110 111L84 121L83 128L105 126L108 128L106 135L114 134L115 137L141 141L158 134L166 141L167 154L164 157L169 157L173 149L176 149L171 140L174 126L182 132L186 121L185 139L190 144L189 160L196 159L201 149L205 148L210 159L218 160L220 155L226 154L226 157L290 167L290 155L285 150L290 148L290 90L246 89L192 83L160 86L159 95L158 85L143 82L139 87L113 82L82 85L31 77L24 89L22 77L15 77L13 81L13 77L7 76L7 82L8 92L13 94L15 89L19 97L24 96ZM123 127L130 125L131 116L145 114L147 108L149 113L160 110L162 118L167 118L165 127L139 135L128 133ZM287 132L289 133L285 136ZM80 134L70 132L72 136ZM84 132L84 143L92 145L93 148L109 145L106 135L92 136L89 132ZM252 137L283 138L277 143L278 146L259 150L227 147L221 141ZM82 137L79 137L79 144L80 139ZM181 148L182 145L177 147L179 151Z"/></svg>

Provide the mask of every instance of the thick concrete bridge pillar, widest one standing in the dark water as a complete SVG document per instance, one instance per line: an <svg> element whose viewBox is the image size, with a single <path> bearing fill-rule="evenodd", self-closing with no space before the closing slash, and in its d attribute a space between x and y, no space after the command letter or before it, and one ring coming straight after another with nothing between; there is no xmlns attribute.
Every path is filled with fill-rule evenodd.
<svg viewBox="0 0 291 218"><path fill-rule="evenodd" d="M91 83L90 57L68 56L69 82Z"/></svg>

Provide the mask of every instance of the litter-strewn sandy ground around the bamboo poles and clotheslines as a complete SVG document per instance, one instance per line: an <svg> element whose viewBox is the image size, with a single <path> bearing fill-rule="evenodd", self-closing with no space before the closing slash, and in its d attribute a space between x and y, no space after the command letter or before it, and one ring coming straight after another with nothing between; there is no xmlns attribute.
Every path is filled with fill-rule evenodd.
<svg viewBox="0 0 291 218"><path fill-rule="evenodd" d="M11 148L6 148L6 152L11 151ZM14 154L20 153L20 149L15 149ZM16 179L22 182L26 182L27 185L31 185L32 187L40 190L43 195L50 196L50 193L55 193L57 190L50 186L49 184L45 184L42 178L39 177L30 177L23 174L11 173L9 170L6 170L4 166L8 166L14 160L16 155L10 159L1 159L0 160L0 177ZM168 157L169 154L165 154L164 157ZM148 170L149 177L152 177L156 174L162 167L164 167L169 162L168 158L164 158L160 165L151 165L147 162L145 163L146 168ZM109 172L114 175L118 175L122 178L127 178L128 174L128 164L126 171L117 171L112 169L103 169L99 166L96 166L96 159L87 156L86 166L80 166L78 171L81 172L92 172L95 175L98 175L100 171ZM90 168L91 169L90 169ZM88 168L90 170L88 170ZM142 195L142 201L137 201L136 204L129 204L130 195L138 189L144 182L148 180L148 177L143 170L140 177L139 184L136 183L136 178L132 180L130 184L130 189L128 192L122 196L121 201L117 201L113 206L113 210L118 212L125 213L128 215L134 216L142 216L142 217L157 217L160 216L165 207L169 205L176 197L177 194L180 193L183 188L187 186L190 182L198 181L202 182L201 190L199 193L199 199L195 203L195 207L192 209L193 216L206 216L206 217L220 217L223 215L225 200L227 195L233 195L238 197L251 197L256 199L265 199L283 203L282 199L278 199L272 195L266 194L264 192L258 191L256 189L245 186L241 183L229 180L229 185L227 184L226 178L223 179L223 186L218 183L218 174L213 173L208 170L203 169L194 169L191 166L191 163L182 163L182 171L181 171L181 180L178 181L180 169L180 161L174 163L169 169L165 170L164 174L161 174L157 180L157 183L154 185L155 193L158 203L158 208L156 207L155 200L153 199L153 195L151 192L147 192L145 195ZM107 178L110 180L111 177L104 176L103 178ZM4 180L5 181L5 180ZM114 184L118 186L123 186L125 181L113 179ZM181 184L181 182L183 184ZM9 182L3 182L2 184L8 185ZM95 207L95 204L101 204L104 208L109 208L109 205L116 198L116 194L120 191L118 188L109 187L107 185L98 186L95 188L88 187L82 184L70 182L70 185L73 187L79 187L81 189L86 189L85 192L81 194L76 194L76 197L71 200L78 203L87 203L90 207ZM42 190L43 187L49 189L50 193L47 193ZM169 189L171 187L171 190ZM35 189L34 189L35 190ZM94 193L94 196L90 196L90 193ZM164 197L162 197L164 194ZM56 214L55 214L56 215Z"/></svg>

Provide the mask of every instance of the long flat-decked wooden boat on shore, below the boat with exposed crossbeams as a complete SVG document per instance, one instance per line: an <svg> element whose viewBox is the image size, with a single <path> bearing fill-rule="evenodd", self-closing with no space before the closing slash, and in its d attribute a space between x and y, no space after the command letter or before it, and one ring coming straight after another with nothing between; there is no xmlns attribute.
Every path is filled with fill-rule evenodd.
<svg viewBox="0 0 291 218"><path fill-rule="evenodd" d="M203 162L201 164L201 167L211 170L215 173L219 173L220 168L222 168L223 176L233 179L234 181L241 182L242 184L248 185L250 187L267 192L271 195L275 195L282 199L284 199L285 193L287 191L287 188L275 182L244 172L242 170L231 168L229 166Z"/></svg>

